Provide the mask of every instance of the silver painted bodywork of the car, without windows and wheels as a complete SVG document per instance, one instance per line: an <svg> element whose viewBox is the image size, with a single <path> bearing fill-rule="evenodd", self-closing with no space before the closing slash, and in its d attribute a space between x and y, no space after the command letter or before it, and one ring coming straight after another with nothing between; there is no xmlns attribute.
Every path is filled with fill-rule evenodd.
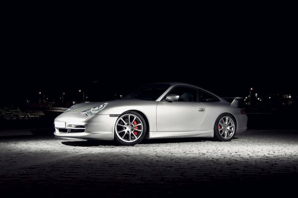
<svg viewBox="0 0 298 198"><path fill-rule="evenodd" d="M175 86L200 87L185 83L170 83L170 87L155 101L120 99L107 101L108 105L95 115L87 116L80 112L101 105L104 102L79 103L70 111L56 117L55 122L66 122L66 128L85 126L80 133L64 133L55 128L54 134L61 138L114 140L117 117L126 111L138 111L148 120L147 138L190 138L214 136L216 119L222 113L231 114L236 121L236 134L246 131L247 116L241 114L240 108L232 106L226 100L217 102L161 101Z"/></svg>

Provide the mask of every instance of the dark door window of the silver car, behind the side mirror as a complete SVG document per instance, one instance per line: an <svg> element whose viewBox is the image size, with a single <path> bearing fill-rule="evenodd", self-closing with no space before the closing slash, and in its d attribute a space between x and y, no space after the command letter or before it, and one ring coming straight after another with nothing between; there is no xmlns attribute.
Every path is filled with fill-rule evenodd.
<svg viewBox="0 0 298 198"><path fill-rule="evenodd" d="M179 95L178 101L196 102L198 89L190 87L176 87L169 94Z"/></svg>

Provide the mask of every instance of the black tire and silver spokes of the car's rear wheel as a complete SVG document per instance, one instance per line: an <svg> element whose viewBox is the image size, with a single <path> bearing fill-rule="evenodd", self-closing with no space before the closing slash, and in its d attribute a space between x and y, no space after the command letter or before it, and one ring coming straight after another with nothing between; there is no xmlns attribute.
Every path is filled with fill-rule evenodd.
<svg viewBox="0 0 298 198"><path fill-rule="evenodd" d="M225 120L225 118L227 118L228 120L229 119L232 120L232 121L230 121L230 123L233 124L233 129L232 129L232 127L230 127L230 126L232 126L232 124L230 124L230 126L224 126L226 128L223 127L223 129L220 129L223 126L223 120ZM220 121L221 121L221 124L220 124ZM234 136L235 136L236 127L237 127L236 126L236 121L233 118L233 116L231 116L228 113L221 114L216 119L215 124L214 124L214 136L213 136L213 140L220 141L220 142L229 142L229 141L231 141L234 138ZM228 130L231 130L231 129L232 129L233 133L231 133L231 135L227 135L227 134L229 134L229 131ZM221 130L221 132L220 132L220 130ZM224 130L224 132L222 130ZM221 135L221 133L223 133L223 135ZM225 135L226 135L226 138L223 137Z"/></svg>

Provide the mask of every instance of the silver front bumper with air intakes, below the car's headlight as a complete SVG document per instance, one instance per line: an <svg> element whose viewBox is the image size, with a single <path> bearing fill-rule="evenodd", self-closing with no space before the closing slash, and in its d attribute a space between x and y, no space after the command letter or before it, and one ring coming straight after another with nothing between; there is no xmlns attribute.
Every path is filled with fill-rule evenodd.
<svg viewBox="0 0 298 198"><path fill-rule="evenodd" d="M56 127L54 135L64 139L114 140L114 127L117 117L65 112L55 122L65 122L65 127ZM76 130L76 127L79 129Z"/></svg>

